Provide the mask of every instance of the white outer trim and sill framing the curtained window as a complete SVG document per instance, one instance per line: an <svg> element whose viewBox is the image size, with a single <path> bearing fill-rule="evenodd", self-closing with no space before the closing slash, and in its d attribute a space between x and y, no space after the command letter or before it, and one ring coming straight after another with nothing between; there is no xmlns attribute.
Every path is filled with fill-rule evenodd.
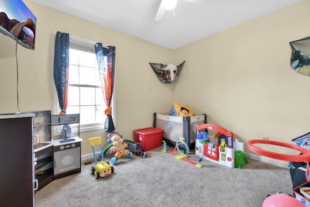
<svg viewBox="0 0 310 207"><path fill-rule="evenodd" d="M55 38L56 38L56 33L55 31L53 31L53 57L52 60L54 60L54 51L55 51ZM70 42L74 42L80 45L84 45L86 47L91 47L94 46L97 42L88 40L88 39L83 39L80 37L76 37L73 35L70 35ZM54 63L54 61L53 61ZM54 69L52 69L53 71ZM58 96L57 96L57 90L56 90L56 86L54 83L54 77L52 76L52 82L53 82L53 114L59 114L60 112L60 106L59 106L59 101L58 101ZM114 85L115 85L115 75L114 75ZM113 118L113 123L114 126L116 126L116 120L115 120L115 87L113 86L113 95L112 95L112 100L111 100L111 108L112 108L112 118ZM80 117L81 118L81 117ZM101 124L84 124L84 125L79 125L79 132L85 132L85 131L94 131L94 130L101 130L104 129L104 124L105 123L101 123ZM58 126L58 127L53 127L53 135L61 135L62 132L62 126ZM77 127L73 127L73 132L77 133L78 132L78 128Z"/></svg>

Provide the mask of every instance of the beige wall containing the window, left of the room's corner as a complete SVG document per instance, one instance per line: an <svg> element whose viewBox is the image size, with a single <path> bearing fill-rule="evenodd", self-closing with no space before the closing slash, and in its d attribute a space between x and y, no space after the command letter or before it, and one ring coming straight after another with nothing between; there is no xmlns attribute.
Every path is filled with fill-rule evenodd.
<svg viewBox="0 0 310 207"><path fill-rule="evenodd" d="M87 20L47 8L29 0L25 4L37 17L35 50L17 45L18 96L20 111L52 110L52 31L68 32L116 47L115 95L116 130L133 139L133 130L151 127L153 112L167 111L172 103L171 87L161 84L149 63L172 62L172 50L117 32ZM16 42L0 35L0 112L15 112ZM6 48L5 51L3 48ZM8 51L6 51L8 50ZM167 105L167 102L169 103ZM52 111L57 114L59 111ZM105 130L81 133L82 154L92 153L88 138L102 136ZM108 145L108 144L107 144Z"/></svg>

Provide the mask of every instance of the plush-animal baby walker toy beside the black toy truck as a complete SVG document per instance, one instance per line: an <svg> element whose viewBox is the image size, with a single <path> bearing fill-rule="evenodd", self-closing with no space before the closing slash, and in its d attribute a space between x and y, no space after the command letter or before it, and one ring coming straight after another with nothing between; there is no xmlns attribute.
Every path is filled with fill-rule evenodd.
<svg viewBox="0 0 310 207"><path fill-rule="evenodd" d="M110 154L115 153L114 158L111 158L111 163L113 165L115 165L121 157L129 159L132 158L132 152L126 149L128 147L128 144L123 141L122 135L120 135L118 132L111 132L108 134L108 137L108 143L111 143L108 146L109 152Z"/></svg>

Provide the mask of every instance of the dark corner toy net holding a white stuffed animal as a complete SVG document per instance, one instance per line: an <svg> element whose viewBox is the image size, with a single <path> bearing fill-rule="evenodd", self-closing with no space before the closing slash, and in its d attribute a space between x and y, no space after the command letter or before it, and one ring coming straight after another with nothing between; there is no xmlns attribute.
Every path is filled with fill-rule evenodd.
<svg viewBox="0 0 310 207"><path fill-rule="evenodd" d="M182 67L184 65L185 61L183 63L179 64L178 66L175 66L174 64L156 64L156 63L149 63L157 76L158 80L160 80L163 83L172 83L175 80L178 79L180 76Z"/></svg>

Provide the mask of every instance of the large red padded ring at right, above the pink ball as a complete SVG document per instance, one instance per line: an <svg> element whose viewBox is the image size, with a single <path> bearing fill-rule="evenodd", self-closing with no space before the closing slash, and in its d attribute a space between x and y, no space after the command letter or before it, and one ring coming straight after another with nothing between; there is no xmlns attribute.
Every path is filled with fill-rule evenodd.
<svg viewBox="0 0 310 207"><path fill-rule="evenodd" d="M261 148L253 146L253 144L273 144L273 145L278 145L278 146L284 146L288 148L292 148L294 150L297 150L302 153L302 155L286 155L286 154L281 154L281 153L275 153L275 152L270 152L267 150L263 150ZM255 152L259 155L263 155L269 158L275 158L275 159L281 159L281 160L286 160L286 161L293 161L293 162L308 162L310 161L310 150L296 146L293 144L289 143L281 143L277 141L271 141L271 140L250 140L247 143L247 147L249 150L252 152Z"/></svg>

